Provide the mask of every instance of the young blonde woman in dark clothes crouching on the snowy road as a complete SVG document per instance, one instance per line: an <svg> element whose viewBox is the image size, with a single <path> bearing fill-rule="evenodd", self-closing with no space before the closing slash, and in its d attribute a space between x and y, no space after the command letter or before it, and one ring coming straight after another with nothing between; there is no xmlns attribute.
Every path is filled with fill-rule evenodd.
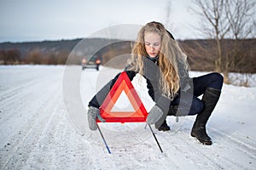
<svg viewBox="0 0 256 170"><path fill-rule="evenodd" d="M197 115L191 136L202 144L212 144L206 124L218 102L223 77L214 72L189 78L187 56L162 24L149 22L138 32L125 72L131 80L137 73L147 80L148 94L155 102L148 112L148 124L168 131L170 127L166 124L166 116ZM96 118L104 122L99 107L118 77L114 77L90 100L88 121L91 130L97 128ZM202 99L198 99L201 94Z"/></svg>

